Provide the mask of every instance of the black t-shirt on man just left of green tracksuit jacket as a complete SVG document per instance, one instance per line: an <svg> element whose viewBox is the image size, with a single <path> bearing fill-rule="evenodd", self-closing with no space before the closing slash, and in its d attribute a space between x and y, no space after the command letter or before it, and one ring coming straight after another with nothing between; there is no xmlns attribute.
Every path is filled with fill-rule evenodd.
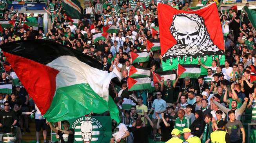
<svg viewBox="0 0 256 143"><path fill-rule="evenodd" d="M168 121L167 123L170 124L170 127L166 127L163 122L160 122L159 124L161 127L161 135L162 135L161 141L168 141L169 139L172 138L172 135L170 134L170 132L172 132L173 125L171 121Z"/></svg>

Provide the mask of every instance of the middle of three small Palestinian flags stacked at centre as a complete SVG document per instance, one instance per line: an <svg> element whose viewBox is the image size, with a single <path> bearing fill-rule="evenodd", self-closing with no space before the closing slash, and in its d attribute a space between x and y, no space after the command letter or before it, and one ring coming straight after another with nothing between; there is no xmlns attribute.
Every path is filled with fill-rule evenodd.
<svg viewBox="0 0 256 143"><path fill-rule="evenodd" d="M129 77L136 79L136 78L142 78L142 77L150 77L150 70L149 68L135 68L134 66L131 66L129 70Z"/></svg>

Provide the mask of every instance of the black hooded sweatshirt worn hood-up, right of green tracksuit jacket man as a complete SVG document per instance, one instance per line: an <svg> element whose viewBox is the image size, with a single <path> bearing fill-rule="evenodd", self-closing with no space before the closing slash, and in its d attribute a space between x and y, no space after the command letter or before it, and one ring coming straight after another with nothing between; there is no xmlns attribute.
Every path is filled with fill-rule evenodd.
<svg viewBox="0 0 256 143"><path fill-rule="evenodd" d="M191 132L194 136L200 138L200 136L203 134L203 129L205 127L203 112L201 110L197 110L195 111L195 114L198 114L199 117L191 124L189 128L191 129ZM196 128L199 128L199 130L196 130Z"/></svg>

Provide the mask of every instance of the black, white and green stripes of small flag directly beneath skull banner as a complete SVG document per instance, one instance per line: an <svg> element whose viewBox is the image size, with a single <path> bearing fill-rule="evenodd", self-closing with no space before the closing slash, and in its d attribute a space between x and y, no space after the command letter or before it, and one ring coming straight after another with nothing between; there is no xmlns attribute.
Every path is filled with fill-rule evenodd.
<svg viewBox="0 0 256 143"><path fill-rule="evenodd" d="M200 77L201 68L198 64L181 64L186 70L180 75L180 78L190 77L197 79Z"/></svg>

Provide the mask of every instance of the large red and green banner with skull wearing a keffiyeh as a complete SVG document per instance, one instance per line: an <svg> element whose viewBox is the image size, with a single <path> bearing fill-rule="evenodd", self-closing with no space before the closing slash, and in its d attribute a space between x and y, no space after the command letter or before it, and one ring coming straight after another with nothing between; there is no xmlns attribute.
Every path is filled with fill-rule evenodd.
<svg viewBox="0 0 256 143"><path fill-rule="evenodd" d="M195 11L180 11L158 4L159 33L163 70L176 69L178 64L211 66L215 57L225 61L224 40L216 4ZM201 68L201 74L206 75Z"/></svg>

